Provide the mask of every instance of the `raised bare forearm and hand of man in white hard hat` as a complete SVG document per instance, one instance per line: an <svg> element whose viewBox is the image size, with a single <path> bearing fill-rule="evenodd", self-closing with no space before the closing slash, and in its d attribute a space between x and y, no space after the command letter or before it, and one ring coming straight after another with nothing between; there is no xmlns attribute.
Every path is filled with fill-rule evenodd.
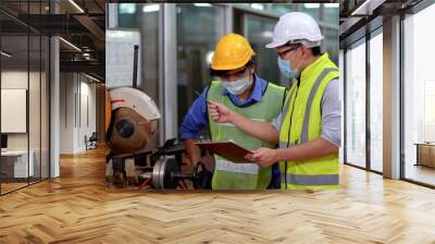
<svg viewBox="0 0 435 244"><path fill-rule="evenodd" d="M256 121L245 118L234 111L228 110L224 105L215 101L209 101L209 114L217 123L233 123L246 134L252 135L259 139L278 143L279 133L270 122Z"/></svg>

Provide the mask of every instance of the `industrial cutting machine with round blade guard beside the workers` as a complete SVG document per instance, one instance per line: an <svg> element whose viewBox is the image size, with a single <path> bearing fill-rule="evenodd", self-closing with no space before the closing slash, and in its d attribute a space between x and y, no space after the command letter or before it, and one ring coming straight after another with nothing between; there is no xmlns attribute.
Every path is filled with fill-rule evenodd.
<svg viewBox="0 0 435 244"><path fill-rule="evenodd" d="M112 88L105 94L107 182L115 184L117 179L124 186L165 190L187 188L187 180L194 188L211 188L212 173L204 163L182 173L185 148L176 138L150 148L161 114L152 98L136 88L137 57L135 46L132 87Z"/></svg>

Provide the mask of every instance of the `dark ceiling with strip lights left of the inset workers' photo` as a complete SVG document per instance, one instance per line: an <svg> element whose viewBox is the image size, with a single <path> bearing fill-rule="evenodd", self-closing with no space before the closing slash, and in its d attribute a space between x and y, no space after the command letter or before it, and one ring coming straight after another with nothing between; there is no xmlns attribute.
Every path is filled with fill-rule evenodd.
<svg viewBox="0 0 435 244"><path fill-rule="evenodd" d="M51 0L51 4L49 0L1 0L1 33L13 42L8 51L16 52L16 59L27 59L20 36L60 36L61 72L86 72L104 80L104 0Z"/></svg>

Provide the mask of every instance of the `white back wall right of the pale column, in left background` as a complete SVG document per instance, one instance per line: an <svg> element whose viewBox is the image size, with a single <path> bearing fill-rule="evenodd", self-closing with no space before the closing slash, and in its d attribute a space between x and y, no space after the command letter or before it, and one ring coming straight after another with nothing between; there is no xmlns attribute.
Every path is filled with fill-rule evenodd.
<svg viewBox="0 0 435 244"><path fill-rule="evenodd" d="M90 82L83 74L61 73L61 154L86 150L85 135L89 137L96 131L96 85Z"/></svg>

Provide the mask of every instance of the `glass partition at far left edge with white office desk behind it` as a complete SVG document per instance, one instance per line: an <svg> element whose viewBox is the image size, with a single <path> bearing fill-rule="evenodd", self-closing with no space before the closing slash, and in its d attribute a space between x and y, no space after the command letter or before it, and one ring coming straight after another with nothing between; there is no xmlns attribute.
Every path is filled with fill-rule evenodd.
<svg viewBox="0 0 435 244"><path fill-rule="evenodd" d="M32 157L28 161L28 41L27 35L1 37L2 193L26 186L27 178L34 175Z"/></svg>

